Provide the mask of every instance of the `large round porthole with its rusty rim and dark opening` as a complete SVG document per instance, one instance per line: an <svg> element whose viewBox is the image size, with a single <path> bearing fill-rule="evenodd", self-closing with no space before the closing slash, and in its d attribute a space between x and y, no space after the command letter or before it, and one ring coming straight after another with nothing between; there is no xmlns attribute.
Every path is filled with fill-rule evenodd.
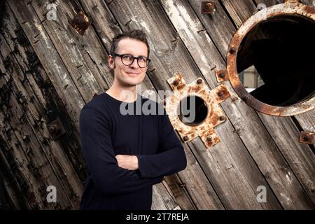
<svg viewBox="0 0 315 224"><path fill-rule="evenodd" d="M235 92L248 106L269 115L293 116L314 109L314 39L312 7L288 1L255 13L230 42L227 71ZM248 67L262 79L251 93L239 77Z"/></svg>

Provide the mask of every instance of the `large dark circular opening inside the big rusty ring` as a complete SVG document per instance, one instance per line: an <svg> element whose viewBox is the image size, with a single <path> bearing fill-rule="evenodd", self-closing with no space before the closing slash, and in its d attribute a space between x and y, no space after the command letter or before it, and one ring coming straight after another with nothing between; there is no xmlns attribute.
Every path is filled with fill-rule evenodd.
<svg viewBox="0 0 315 224"><path fill-rule="evenodd" d="M315 93L315 23L281 15L256 25L237 53L239 79L250 94L272 106L290 106Z"/></svg>

